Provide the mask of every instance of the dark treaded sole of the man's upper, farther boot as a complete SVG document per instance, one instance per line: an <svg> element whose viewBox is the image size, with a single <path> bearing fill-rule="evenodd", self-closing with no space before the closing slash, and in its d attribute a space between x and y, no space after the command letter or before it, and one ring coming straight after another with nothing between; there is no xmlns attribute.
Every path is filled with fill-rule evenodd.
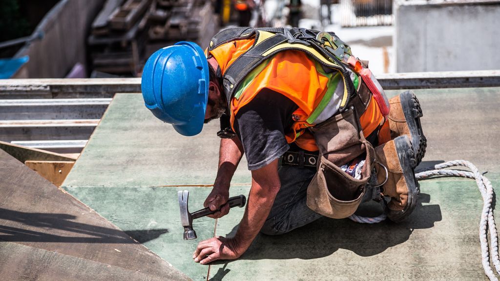
<svg viewBox="0 0 500 281"><path fill-rule="evenodd" d="M399 100L411 135L411 145L415 159L414 168L422 161L427 147L427 139L423 135L422 125L420 124L420 117L423 116L422 108L411 90L399 94Z"/></svg>

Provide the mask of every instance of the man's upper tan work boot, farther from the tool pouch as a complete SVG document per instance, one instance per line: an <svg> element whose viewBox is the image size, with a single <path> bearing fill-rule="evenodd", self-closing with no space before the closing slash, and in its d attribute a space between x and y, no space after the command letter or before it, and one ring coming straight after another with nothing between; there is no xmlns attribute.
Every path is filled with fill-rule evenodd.
<svg viewBox="0 0 500 281"><path fill-rule="evenodd" d="M427 139L423 135L420 117L422 108L413 91L408 90L389 99L390 138L407 135L413 147L415 166L425 155Z"/></svg>

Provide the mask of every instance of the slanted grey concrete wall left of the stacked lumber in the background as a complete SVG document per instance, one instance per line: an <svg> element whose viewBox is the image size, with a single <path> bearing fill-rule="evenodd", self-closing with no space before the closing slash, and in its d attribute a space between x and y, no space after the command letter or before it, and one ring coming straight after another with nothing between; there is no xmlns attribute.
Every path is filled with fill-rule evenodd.
<svg viewBox="0 0 500 281"><path fill-rule="evenodd" d="M29 55L13 78L64 77L76 62L86 65L89 26L104 0L61 0L38 24L41 40L22 47L16 57Z"/></svg>

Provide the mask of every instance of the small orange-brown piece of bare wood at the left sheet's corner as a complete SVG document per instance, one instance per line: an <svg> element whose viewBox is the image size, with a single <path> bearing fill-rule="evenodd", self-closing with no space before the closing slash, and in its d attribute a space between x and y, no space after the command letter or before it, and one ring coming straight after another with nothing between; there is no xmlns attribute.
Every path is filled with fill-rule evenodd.
<svg viewBox="0 0 500 281"><path fill-rule="evenodd" d="M67 174L74 165L74 161L25 161L24 164L37 172L39 175L52 182L55 186L61 186Z"/></svg>

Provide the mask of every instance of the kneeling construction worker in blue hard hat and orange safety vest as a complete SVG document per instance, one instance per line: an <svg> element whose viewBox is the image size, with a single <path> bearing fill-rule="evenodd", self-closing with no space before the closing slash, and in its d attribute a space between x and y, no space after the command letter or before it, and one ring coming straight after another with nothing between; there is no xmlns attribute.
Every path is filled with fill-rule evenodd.
<svg viewBox="0 0 500 281"><path fill-rule="evenodd" d="M251 171L236 234L199 242L194 261L237 258L259 231L282 234L322 215L347 217L363 198L390 197L386 213L393 221L413 210L413 168L426 144L418 100L402 93L384 116L388 107L375 100L373 84L368 90L369 77L355 72L363 67L348 46L314 32L227 29L212 38L205 54L194 43L179 42L146 62L142 94L159 119L184 135L222 115L227 121L221 119L217 176L204 202L218 210L211 217L229 212L229 184L243 153ZM312 35L345 52L318 55L324 45L311 48L317 43ZM339 58L357 70L335 64Z"/></svg>

